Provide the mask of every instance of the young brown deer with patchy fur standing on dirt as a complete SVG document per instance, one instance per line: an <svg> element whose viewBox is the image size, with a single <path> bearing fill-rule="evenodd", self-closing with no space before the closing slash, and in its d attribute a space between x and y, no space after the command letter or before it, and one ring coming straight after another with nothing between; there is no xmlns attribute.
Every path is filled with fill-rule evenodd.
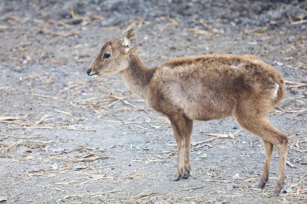
<svg viewBox="0 0 307 204"><path fill-rule="evenodd" d="M285 94L282 75L252 55L182 57L147 68L133 48L136 39L137 28L131 23L121 38L102 46L87 74L121 73L130 91L170 119L178 146L178 169L171 180L190 175L193 120L233 116L242 128L262 138L266 155L260 188L268 181L273 146L277 147L273 195L278 195L284 183L288 137L268 121L267 113Z"/></svg>

